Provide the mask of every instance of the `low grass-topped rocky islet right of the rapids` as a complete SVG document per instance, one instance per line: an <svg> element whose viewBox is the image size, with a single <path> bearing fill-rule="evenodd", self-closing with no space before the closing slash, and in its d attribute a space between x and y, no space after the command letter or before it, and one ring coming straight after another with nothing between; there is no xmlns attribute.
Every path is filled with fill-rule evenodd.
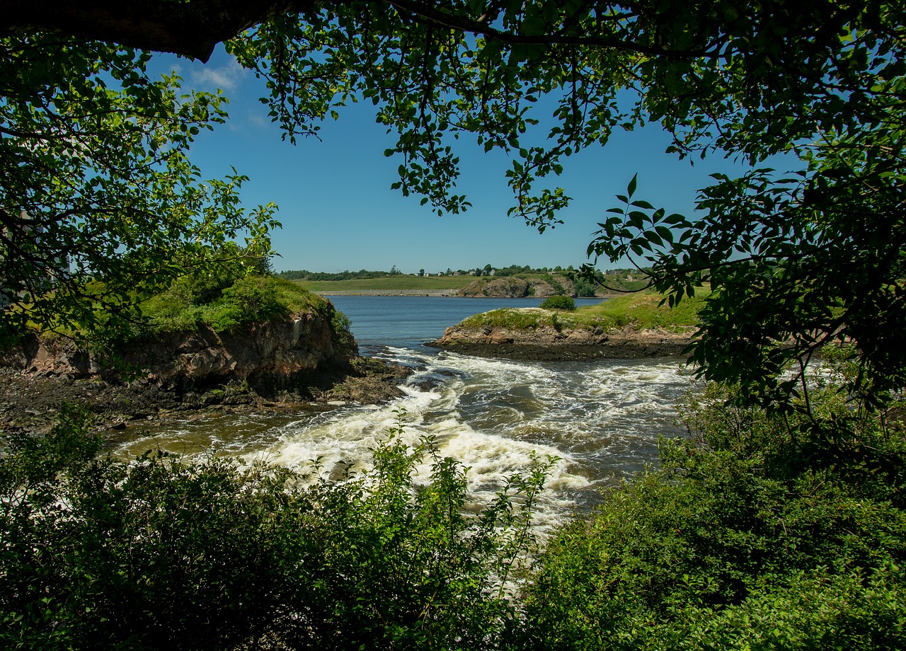
<svg viewBox="0 0 906 651"><path fill-rule="evenodd" d="M575 309L502 309L482 312L448 328L429 346L507 359L629 359L679 357L698 326L703 296L673 309L651 292L629 294ZM569 308L573 309L570 310Z"/></svg>

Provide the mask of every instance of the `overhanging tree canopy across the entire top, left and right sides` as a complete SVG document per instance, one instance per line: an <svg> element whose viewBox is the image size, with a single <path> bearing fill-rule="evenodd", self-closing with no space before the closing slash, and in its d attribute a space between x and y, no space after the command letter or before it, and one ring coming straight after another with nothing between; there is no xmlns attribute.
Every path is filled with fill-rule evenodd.
<svg viewBox="0 0 906 651"><path fill-rule="evenodd" d="M149 3L156 5L173 6ZM185 235L193 228L210 234L205 229L213 227L212 219L201 217L206 208L226 219L217 226L223 232L263 227L266 210L251 219L239 215L233 190L241 177L205 186L214 192L205 203L189 168L181 168L181 177L173 170L192 129L220 118L216 97L196 93L177 100L174 81L151 82L143 74L145 54L73 40L91 36L205 58L212 39L226 39L227 51L265 79L270 116L289 139L315 133L319 121L336 117L344 103L373 102L378 121L398 136L386 152L401 158L395 187L422 196L439 212L468 207L456 190L456 141L466 137L511 157L511 214L540 230L554 225L569 203L566 190L545 179L561 172L564 158L606 145L613 129L658 123L679 157L705 158L705 165L708 157L744 158L753 170L740 178L715 177L701 189L695 215L656 209L640 198L644 179L637 187L632 178L620 197L623 206L602 216L589 254L612 261L635 257L651 267L653 286L671 302L710 283L692 359L707 378L741 380L748 395L783 403L795 393L796 378L781 371L790 363L805 365L835 339L856 344L862 372L853 392L877 401L903 384L906 8L900 4L178 4L178 12L213 15L217 9L236 18L216 27L202 21L198 42L208 44L198 50L180 49L162 35L141 40L134 25L127 29L135 20L107 21L93 31L91 24L68 29L16 6L5 27L0 155L10 170L5 179L23 180L4 181L3 203L5 214L24 210L43 220L47 232L92 224L96 204L106 206L112 198L120 217L93 223L98 232L118 234L116 225L134 219L125 215L138 214L120 201L120 186L104 186L113 178L107 170L123 168L148 170L147 179L129 175L134 196L150 202L138 206L141 214L188 206L183 222L162 216L146 221L154 233L197 242L194 233ZM80 6L111 11L100 1ZM144 6L124 11L132 19L153 14ZM29 57L38 56L42 64L35 59L30 68ZM75 79L82 72L93 80L85 86ZM117 90L103 91L111 78ZM116 101L103 99L111 92ZM145 120L152 105L153 119ZM551 114L543 115L550 107ZM44 122L53 125L53 138L35 139L47 133ZM132 158L114 159L111 167L86 158L86 152L94 157L88 143L72 147L73 139L88 133L89 122L92 129L109 127L93 136L101 144L119 143L113 129L131 134L126 140L137 143L127 148ZM768 167L777 155L784 155L779 160L788 168L782 173ZM73 158L88 162L73 165ZM57 169L74 180L58 188L47 180ZM164 169L170 170L166 182ZM141 188L152 189L142 194ZM193 201L182 200L187 193ZM90 206L76 200L97 196L103 201L92 199ZM161 196L167 209L154 204ZM102 226L108 223L111 231ZM106 271L117 246L130 244L126 235L112 241L88 265L92 273ZM33 294L15 300L24 304Z"/></svg>

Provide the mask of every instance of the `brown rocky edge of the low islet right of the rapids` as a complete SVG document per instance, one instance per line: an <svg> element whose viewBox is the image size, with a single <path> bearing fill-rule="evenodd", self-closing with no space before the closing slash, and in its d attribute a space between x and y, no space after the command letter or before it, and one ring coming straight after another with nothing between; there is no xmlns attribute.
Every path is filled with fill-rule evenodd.
<svg viewBox="0 0 906 651"><path fill-rule="evenodd" d="M637 330L631 327L506 328L499 326L448 328L439 340L427 345L467 355L506 359L632 359L682 357L694 329Z"/></svg>

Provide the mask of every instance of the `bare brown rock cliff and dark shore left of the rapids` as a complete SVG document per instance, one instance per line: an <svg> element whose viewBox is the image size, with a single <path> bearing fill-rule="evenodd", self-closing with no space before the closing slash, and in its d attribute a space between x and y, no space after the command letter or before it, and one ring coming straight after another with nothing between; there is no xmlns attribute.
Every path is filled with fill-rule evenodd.
<svg viewBox="0 0 906 651"><path fill-rule="evenodd" d="M378 403L411 369L338 349L330 323L295 314L236 335L174 334L116 359L69 340L29 338L0 353L0 430L46 429L64 403L101 428L187 411L241 412L304 402Z"/></svg>

